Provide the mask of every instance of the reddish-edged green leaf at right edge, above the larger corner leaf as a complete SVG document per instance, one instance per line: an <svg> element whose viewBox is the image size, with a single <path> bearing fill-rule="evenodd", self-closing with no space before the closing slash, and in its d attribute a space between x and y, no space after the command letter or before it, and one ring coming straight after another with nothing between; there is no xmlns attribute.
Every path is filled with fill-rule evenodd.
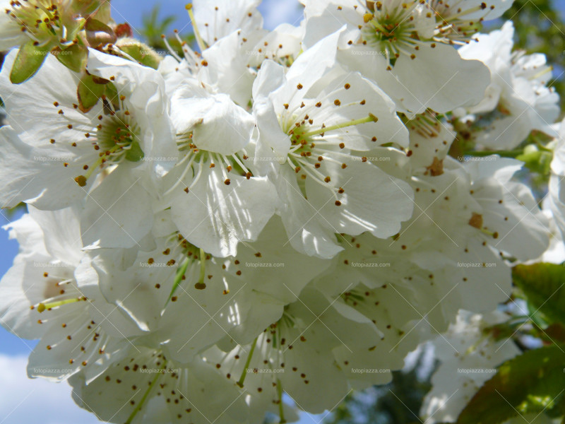
<svg viewBox="0 0 565 424"><path fill-rule="evenodd" d="M513 269L514 284L525 295L534 312L546 321L565 323L565 267L555 264L518 265Z"/></svg>

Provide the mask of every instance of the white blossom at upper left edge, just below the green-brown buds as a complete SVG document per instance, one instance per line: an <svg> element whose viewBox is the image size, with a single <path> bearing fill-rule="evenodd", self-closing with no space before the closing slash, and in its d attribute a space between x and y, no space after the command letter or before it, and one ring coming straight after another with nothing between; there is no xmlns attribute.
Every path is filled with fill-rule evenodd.
<svg viewBox="0 0 565 424"><path fill-rule="evenodd" d="M11 124L1 129L2 206L28 201L57 210L84 201L85 245L137 245L153 220L147 199L158 197L156 180L176 153L160 74L92 50L88 69L114 95L86 110L77 100L78 77L53 57L34 78L11 84L14 56L0 73Z"/></svg>

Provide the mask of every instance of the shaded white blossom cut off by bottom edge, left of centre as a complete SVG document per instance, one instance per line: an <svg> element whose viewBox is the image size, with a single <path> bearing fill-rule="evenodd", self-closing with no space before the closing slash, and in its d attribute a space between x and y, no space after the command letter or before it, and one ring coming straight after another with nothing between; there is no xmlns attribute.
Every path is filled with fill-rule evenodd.
<svg viewBox="0 0 565 424"><path fill-rule="evenodd" d="M111 423L185 419L198 424L237 424L249 416L239 387L215 366L201 358L177 363L154 348L131 348L93 381L78 374L69 383L79 406Z"/></svg>

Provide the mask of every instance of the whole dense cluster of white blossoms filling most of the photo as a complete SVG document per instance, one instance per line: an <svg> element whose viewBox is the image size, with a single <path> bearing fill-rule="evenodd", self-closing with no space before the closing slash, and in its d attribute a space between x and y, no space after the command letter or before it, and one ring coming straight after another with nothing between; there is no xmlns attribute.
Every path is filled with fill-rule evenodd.
<svg viewBox="0 0 565 424"><path fill-rule="evenodd" d="M100 3L5 6L0 204L28 213L0 317L101 420L332 409L547 249L522 163L454 143L557 136L545 58L479 33L511 1L303 0L268 31L194 0L165 57Z"/></svg>

